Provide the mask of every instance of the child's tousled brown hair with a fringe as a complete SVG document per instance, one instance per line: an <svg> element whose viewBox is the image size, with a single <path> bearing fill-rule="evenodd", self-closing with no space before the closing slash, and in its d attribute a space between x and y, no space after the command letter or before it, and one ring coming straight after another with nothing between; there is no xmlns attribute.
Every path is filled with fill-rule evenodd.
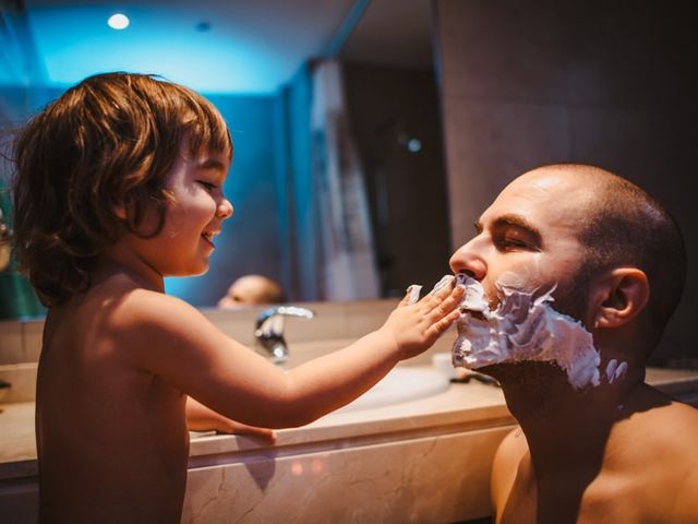
<svg viewBox="0 0 698 524"><path fill-rule="evenodd" d="M45 306L84 291L100 253L124 226L144 238L159 233L171 199L166 177L183 143L194 155L232 155L228 128L209 102L129 73L84 80L20 132L14 249ZM117 209L125 210L125 221ZM157 216L147 231L146 211Z"/></svg>

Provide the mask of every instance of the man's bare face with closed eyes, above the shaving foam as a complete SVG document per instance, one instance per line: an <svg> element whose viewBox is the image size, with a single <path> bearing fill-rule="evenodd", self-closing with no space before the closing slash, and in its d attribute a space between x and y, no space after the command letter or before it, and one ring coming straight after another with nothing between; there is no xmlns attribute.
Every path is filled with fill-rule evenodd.
<svg viewBox="0 0 698 524"><path fill-rule="evenodd" d="M497 302L497 281L539 293L557 285L555 310L588 325L588 282L578 281L585 250L576 233L590 194L578 177L553 169L517 178L480 216L477 236L454 253L452 270L480 281L491 309Z"/></svg>

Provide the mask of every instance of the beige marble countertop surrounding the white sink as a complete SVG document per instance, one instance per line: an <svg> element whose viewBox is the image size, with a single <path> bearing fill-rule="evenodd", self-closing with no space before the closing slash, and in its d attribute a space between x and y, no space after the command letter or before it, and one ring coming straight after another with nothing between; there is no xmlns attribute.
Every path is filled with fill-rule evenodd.
<svg viewBox="0 0 698 524"><path fill-rule="evenodd" d="M698 391L698 371L649 368L647 381L670 395ZM244 436L192 433L190 468L227 463L244 455L301 453L362 445L397 438L419 438L465 430L513 426L498 388L471 382L444 393L397 405L337 412L301 428L277 431L267 446ZM0 480L35 477L34 403L0 404Z"/></svg>

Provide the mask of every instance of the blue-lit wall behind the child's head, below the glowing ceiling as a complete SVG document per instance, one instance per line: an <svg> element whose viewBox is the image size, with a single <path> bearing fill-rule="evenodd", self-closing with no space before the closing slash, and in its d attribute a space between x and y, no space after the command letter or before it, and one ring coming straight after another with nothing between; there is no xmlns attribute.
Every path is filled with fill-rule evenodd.
<svg viewBox="0 0 698 524"><path fill-rule="evenodd" d="M61 90L29 92L0 87L0 127L21 124L26 116L60 96ZM275 184L275 104L273 96L207 96L230 128L234 158L225 192L234 206L217 238L207 274L167 278L166 289L194 306L213 306L240 275L261 273L282 282L279 211Z"/></svg>

